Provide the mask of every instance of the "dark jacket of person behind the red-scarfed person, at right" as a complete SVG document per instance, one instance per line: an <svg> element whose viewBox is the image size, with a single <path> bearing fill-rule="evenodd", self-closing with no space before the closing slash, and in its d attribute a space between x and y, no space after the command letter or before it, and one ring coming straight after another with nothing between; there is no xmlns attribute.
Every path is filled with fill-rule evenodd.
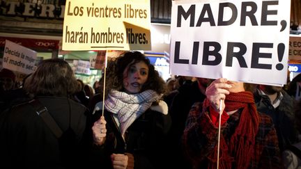
<svg viewBox="0 0 301 169"><path fill-rule="evenodd" d="M284 96L277 108L274 108L268 96L259 95L258 90L254 93L257 111L270 115L279 140L279 148L282 151L288 145L297 141L297 131L294 127L294 104L295 100L289 96L284 90L281 91Z"/></svg>

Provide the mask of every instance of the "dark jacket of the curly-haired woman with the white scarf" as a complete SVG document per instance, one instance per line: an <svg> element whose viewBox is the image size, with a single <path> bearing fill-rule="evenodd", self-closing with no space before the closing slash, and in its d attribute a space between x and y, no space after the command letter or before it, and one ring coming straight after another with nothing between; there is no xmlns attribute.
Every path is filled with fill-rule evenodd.
<svg viewBox="0 0 301 169"><path fill-rule="evenodd" d="M100 115L102 115L102 111L95 112L91 126L100 118ZM109 111L104 113L107 121L107 138L104 145L94 146L94 156L89 157L90 164L94 163L95 166L109 169L112 168L111 154L130 153L134 156L135 169L160 168L165 162L163 142L164 136L171 126L169 115L148 108L130 125L125 132L125 140L116 125L114 115Z"/></svg>

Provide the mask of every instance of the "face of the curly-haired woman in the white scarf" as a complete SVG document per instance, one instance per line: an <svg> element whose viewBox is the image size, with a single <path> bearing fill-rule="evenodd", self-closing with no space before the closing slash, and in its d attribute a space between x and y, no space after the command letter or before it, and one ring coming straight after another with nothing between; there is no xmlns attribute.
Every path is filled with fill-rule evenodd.
<svg viewBox="0 0 301 169"><path fill-rule="evenodd" d="M148 79L148 65L143 61L131 64L123 71L123 88L125 92L134 94L140 92Z"/></svg>

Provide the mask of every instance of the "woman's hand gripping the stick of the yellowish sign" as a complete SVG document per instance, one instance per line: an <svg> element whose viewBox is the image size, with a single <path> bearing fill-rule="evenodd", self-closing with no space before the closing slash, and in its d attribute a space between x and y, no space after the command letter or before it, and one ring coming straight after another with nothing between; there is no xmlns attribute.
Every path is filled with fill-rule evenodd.
<svg viewBox="0 0 301 169"><path fill-rule="evenodd" d="M106 120L104 116L101 116L99 120L94 122L92 131L94 142L98 145L105 143L105 137L107 136Z"/></svg>

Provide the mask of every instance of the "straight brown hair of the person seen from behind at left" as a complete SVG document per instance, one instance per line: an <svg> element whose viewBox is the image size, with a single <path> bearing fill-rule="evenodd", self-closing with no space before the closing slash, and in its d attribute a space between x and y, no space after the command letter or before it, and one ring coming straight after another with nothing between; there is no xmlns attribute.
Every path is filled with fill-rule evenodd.
<svg viewBox="0 0 301 169"><path fill-rule="evenodd" d="M79 90L70 65L59 58L46 59L28 77L24 89L34 96L70 97Z"/></svg>

